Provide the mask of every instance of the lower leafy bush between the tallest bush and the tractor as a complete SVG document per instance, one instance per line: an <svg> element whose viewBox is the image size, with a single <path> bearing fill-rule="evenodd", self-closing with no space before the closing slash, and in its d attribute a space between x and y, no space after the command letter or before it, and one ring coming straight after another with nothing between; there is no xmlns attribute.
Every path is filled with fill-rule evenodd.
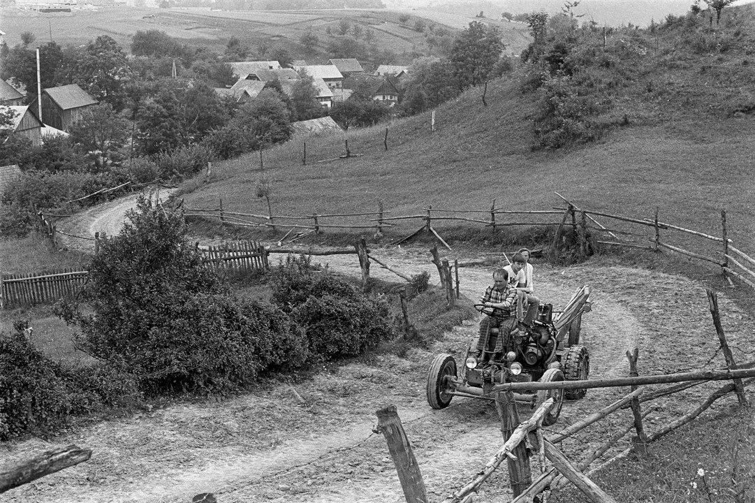
<svg viewBox="0 0 755 503"><path fill-rule="evenodd" d="M273 302L307 332L310 353L354 356L393 338L388 304L331 273L315 275L306 258L286 258L271 274Z"/></svg>

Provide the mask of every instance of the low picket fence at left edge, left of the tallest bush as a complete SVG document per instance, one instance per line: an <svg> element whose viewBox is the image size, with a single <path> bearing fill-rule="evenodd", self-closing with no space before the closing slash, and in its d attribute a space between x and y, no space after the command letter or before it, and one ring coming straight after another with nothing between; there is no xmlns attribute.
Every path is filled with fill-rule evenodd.
<svg viewBox="0 0 755 503"><path fill-rule="evenodd" d="M0 273L0 308L45 304L72 297L88 279L88 271L72 269L44 275Z"/></svg>

